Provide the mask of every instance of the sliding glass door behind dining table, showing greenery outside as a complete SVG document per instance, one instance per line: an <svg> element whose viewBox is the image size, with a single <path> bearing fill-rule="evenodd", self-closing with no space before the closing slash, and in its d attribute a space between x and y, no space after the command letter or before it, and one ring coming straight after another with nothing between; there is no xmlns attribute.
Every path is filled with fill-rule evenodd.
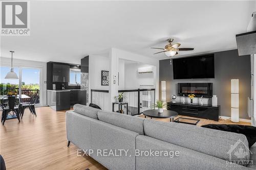
<svg viewBox="0 0 256 170"><path fill-rule="evenodd" d="M18 79L5 79L7 72L10 71L9 66L0 66L0 70L0 95L6 95L8 91L16 91L18 94L26 95L22 102L28 102L34 94L38 93L39 98L36 104L40 105L40 68L14 67Z"/></svg>

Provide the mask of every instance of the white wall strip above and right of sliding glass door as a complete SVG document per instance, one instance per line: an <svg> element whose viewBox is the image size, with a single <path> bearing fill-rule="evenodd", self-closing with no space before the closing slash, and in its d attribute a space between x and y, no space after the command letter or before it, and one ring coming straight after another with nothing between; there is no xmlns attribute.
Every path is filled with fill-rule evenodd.
<svg viewBox="0 0 256 170"><path fill-rule="evenodd" d="M11 66L11 58L1 57L1 65ZM47 105L47 93L46 93L46 62L30 61L30 60L19 60L13 59L13 67L29 67L40 69L40 106Z"/></svg>

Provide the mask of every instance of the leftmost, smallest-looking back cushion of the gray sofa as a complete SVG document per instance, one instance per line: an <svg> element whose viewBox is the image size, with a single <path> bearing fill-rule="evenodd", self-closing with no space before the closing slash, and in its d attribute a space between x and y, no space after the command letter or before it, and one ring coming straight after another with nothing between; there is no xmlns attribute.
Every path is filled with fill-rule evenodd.
<svg viewBox="0 0 256 170"><path fill-rule="evenodd" d="M98 119L97 113L100 109L95 109L93 107L80 105L80 104L75 104L73 106L73 108L76 113L79 113L79 114L82 114L84 116L88 116L91 118Z"/></svg>

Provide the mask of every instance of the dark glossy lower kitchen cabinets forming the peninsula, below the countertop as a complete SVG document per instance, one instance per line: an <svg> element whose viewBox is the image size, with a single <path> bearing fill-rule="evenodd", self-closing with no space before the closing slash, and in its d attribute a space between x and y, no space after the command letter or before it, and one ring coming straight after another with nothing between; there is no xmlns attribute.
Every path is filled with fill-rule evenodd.
<svg viewBox="0 0 256 170"><path fill-rule="evenodd" d="M70 110L74 104L86 105L86 90L47 90L47 105L53 110Z"/></svg>

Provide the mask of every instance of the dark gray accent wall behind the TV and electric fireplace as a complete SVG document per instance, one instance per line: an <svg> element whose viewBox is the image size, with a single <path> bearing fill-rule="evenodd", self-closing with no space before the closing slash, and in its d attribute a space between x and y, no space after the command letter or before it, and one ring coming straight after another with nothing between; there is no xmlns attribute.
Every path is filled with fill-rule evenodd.
<svg viewBox="0 0 256 170"><path fill-rule="evenodd" d="M166 81L166 101L171 95L177 95L178 83L213 83L213 94L218 97L221 115L231 116L231 79L239 79L239 116L250 119L247 114L247 97L251 96L250 56L238 56L238 50L215 53L215 79L173 79L173 65L170 60L159 61L159 94L161 99L161 81Z"/></svg>

